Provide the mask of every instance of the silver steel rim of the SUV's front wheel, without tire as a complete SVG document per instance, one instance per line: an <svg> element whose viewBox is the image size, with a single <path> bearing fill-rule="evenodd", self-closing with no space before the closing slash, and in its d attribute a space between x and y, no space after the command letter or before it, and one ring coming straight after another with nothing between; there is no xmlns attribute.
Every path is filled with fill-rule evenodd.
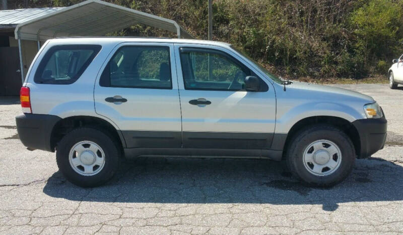
<svg viewBox="0 0 403 235"><path fill-rule="evenodd" d="M304 167L315 176L328 176L339 169L342 152L332 141L321 139L309 144L304 151Z"/></svg>

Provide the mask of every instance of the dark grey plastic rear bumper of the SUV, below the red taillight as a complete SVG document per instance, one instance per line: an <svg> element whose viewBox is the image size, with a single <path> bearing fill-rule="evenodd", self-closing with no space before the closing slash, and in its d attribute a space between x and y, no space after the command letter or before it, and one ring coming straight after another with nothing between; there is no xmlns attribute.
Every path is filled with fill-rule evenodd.
<svg viewBox="0 0 403 235"><path fill-rule="evenodd" d="M21 114L16 117L18 136L30 148L54 151L51 146L53 126L61 118L45 114Z"/></svg>

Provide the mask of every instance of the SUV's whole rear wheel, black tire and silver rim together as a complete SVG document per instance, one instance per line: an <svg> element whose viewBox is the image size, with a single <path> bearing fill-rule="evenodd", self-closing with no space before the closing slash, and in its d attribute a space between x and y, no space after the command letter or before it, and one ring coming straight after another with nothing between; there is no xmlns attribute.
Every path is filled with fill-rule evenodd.
<svg viewBox="0 0 403 235"><path fill-rule="evenodd" d="M117 171L120 151L107 134L94 128L79 128L57 144L56 162L66 179L81 187L107 182Z"/></svg>

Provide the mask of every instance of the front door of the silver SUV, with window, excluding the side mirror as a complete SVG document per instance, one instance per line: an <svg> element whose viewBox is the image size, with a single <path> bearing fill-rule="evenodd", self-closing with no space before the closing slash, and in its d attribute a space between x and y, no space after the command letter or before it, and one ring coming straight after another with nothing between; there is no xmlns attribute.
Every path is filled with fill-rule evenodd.
<svg viewBox="0 0 403 235"><path fill-rule="evenodd" d="M270 148L276 121L272 85L260 78L260 91L244 90L256 72L221 47L175 44L186 148Z"/></svg>

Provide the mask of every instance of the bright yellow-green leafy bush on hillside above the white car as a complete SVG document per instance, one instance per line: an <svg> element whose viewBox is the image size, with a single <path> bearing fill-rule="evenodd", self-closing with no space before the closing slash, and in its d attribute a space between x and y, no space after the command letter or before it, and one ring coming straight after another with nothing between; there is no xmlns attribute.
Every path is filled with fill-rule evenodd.
<svg viewBox="0 0 403 235"><path fill-rule="evenodd" d="M349 23L353 31L352 56L362 60L362 75L382 60L401 53L403 2L371 0L352 12ZM389 59L388 59L389 58Z"/></svg>

